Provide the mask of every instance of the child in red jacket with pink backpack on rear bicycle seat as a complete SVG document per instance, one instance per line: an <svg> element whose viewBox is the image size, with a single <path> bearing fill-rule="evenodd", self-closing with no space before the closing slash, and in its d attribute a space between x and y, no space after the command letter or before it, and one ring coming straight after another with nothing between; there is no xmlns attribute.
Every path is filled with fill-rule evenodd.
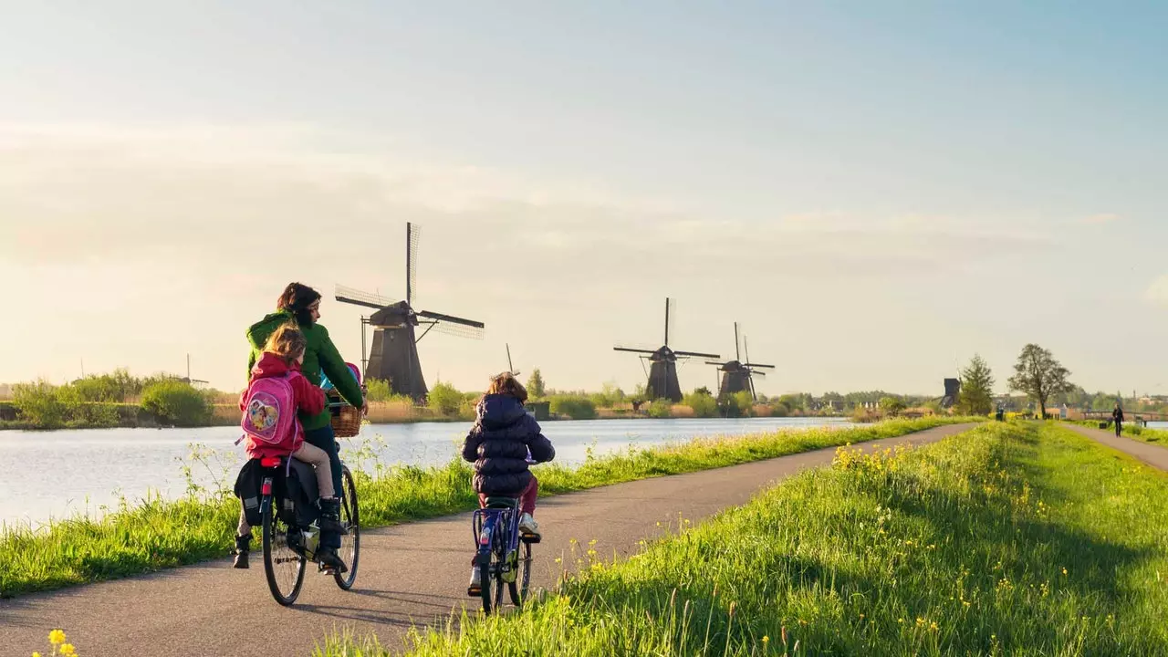
<svg viewBox="0 0 1168 657"><path fill-rule="evenodd" d="M307 340L294 324L277 328L264 345L263 354L251 369L248 390L239 400L243 410L248 458L287 456L313 465L320 491L320 530L347 533L340 523L340 500L333 490L328 454L304 440L304 429L297 413L318 414L325 409L325 393L300 374L300 364ZM235 538L235 567L248 567L251 547L251 527L246 514L239 511L239 527ZM321 547L317 559L325 566L343 573L348 568L336 549Z"/></svg>

